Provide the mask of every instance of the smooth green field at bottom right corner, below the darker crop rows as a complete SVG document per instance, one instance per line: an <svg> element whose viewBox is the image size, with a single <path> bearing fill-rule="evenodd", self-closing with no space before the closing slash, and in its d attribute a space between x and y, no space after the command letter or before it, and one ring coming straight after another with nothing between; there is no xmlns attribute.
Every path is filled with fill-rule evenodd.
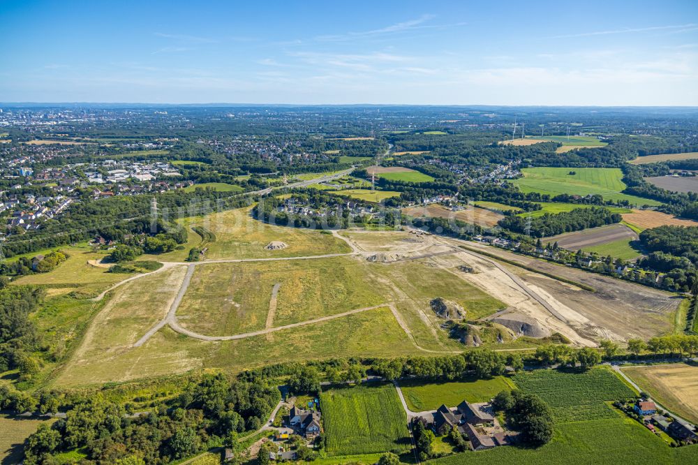
<svg viewBox="0 0 698 465"><path fill-rule="evenodd" d="M595 465L698 462L698 446L670 448L659 436L632 418L588 420L555 425L550 443L525 449L500 447L463 452L426 462L429 465L520 464Z"/></svg>

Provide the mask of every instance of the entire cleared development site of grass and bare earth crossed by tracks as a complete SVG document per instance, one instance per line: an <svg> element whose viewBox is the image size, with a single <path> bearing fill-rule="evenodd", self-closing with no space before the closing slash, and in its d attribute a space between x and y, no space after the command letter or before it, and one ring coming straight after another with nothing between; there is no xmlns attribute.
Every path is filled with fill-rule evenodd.
<svg viewBox="0 0 698 465"><path fill-rule="evenodd" d="M520 350L540 344L536 338L556 337L597 346L600 339L670 333L681 302L659 290L420 230L330 235L233 212L242 213L235 226L226 218L209 225L216 230L215 258L186 263L172 256L159 270L95 297L100 308L54 383L208 367L240 371L336 353L443 355L463 350L463 342ZM207 220L185 223L191 228ZM271 240L285 247L266 248ZM311 244L320 253L312 253ZM495 260L493 253L544 274ZM445 330L430 307L436 297L462 307L468 334Z"/></svg>

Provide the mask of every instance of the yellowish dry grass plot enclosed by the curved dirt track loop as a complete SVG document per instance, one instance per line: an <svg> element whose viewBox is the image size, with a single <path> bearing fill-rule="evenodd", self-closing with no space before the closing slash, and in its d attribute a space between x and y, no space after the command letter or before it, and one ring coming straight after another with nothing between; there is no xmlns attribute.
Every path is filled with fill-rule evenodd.
<svg viewBox="0 0 698 465"><path fill-rule="evenodd" d="M262 330L277 283L271 327L385 302L353 258L218 263L196 268L177 310L179 323L211 336Z"/></svg>

